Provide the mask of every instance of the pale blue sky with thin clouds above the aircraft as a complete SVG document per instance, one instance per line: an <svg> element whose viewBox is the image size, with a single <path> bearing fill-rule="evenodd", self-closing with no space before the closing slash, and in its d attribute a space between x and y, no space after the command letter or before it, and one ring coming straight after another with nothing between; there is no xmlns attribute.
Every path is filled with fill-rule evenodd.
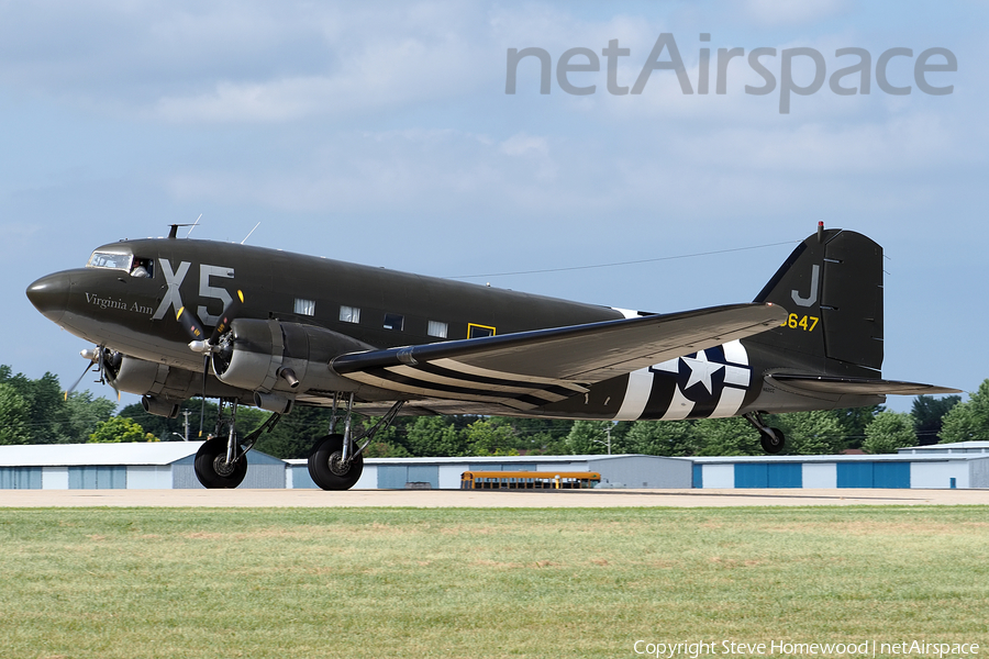
<svg viewBox="0 0 989 659"><path fill-rule="evenodd" d="M751 301L822 221L884 246L884 376L975 391L987 24L977 1L0 2L0 364L75 380L89 346L27 286L200 215L192 238L260 223L249 244L655 312ZM512 76L525 48L548 93L537 56Z"/></svg>

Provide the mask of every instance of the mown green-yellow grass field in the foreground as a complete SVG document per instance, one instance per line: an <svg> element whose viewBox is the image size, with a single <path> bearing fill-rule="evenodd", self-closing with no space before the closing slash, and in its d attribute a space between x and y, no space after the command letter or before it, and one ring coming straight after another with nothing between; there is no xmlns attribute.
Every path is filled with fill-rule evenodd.
<svg viewBox="0 0 989 659"><path fill-rule="evenodd" d="M987 547L981 506L2 510L0 657L986 655Z"/></svg>

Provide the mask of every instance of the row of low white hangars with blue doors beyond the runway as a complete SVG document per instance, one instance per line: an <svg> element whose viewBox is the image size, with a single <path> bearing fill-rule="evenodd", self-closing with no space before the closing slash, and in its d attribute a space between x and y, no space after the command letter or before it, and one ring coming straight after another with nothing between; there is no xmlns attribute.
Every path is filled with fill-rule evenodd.
<svg viewBox="0 0 989 659"><path fill-rule="evenodd" d="M201 488L200 442L0 446L2 489ZM251 451L242 488L315 488L305 460ZM369 458L356 487L457 489L464 471L597 471L602 488L989 488L989 442L881 456Z"/></svg>

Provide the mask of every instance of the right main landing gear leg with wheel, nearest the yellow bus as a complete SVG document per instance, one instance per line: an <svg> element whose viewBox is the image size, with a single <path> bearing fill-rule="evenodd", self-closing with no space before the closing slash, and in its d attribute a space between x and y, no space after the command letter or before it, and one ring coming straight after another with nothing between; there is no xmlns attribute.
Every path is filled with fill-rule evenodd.
<svg viewBox="0 0 989 659"><path fill-rule="evenodd" d="M360 479L360 473L364 471L364 449L379 431L385 429L395 421L399 410L404 405L404 401L398 401L374 427L357 436L351 433L354 394L352 393L347 401L343 435L333 432L336 426L335 395L333 401L334 414L330 422L330 434L320 437L313 445L312 453L309 455L309 476L323 490L349 490Z"/></svg>

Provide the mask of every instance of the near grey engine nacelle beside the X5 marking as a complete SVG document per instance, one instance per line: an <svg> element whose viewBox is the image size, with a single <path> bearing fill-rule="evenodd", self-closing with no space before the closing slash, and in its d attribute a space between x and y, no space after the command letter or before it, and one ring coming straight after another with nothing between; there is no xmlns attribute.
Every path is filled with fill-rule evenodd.
<svg viewBox="0 0 989 659"><path fill-rule="evenodd" d="M371 349L353 337L299 323L236 319L214 353L213 372L231 387L290 396L310 389L341 391L354 382L330 370L338 355Z"/></svg>

